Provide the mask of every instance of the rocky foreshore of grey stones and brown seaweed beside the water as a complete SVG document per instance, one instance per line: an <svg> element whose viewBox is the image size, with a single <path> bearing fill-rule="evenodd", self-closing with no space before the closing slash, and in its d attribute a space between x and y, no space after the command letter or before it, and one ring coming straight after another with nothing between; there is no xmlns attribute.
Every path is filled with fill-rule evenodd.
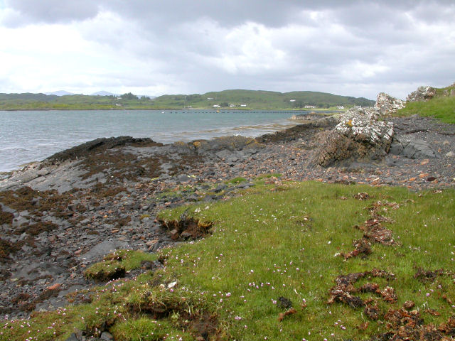
<svg viewBox="0 0 455 341"><path fill-rule="evenodd" d="M401 104L380 96L375 108L256 139L97 139L0 181L1 317L84 301L74 292L94 283L83 272L109 251L153 252L191 239L162 227L159 210L225 200L259 175L279 173L268 179L275 183L454 187L455 125L387 117Z"/></svg>

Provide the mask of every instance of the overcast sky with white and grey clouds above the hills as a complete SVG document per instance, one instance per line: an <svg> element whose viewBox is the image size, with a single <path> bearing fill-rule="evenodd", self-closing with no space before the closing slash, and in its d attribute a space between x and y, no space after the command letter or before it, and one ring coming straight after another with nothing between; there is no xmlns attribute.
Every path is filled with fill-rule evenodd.
<svg viewBox="0 0 455 341"><path fill-rule="evenodd" d="M455 82L454 0L0 0L0 92L312 90Z"/></svg>

